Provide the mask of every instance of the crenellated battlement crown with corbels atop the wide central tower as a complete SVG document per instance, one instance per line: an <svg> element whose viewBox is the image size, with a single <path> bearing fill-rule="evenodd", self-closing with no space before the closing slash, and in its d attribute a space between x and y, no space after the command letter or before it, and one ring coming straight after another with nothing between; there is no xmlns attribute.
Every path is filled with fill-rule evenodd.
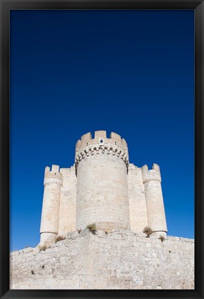
<svg viewBox="0 0 204 299"><path fill-rule="evenodd" d="M106 131L95 131L94 138L91 133L82 135L77 141L75 151L75 168L87 156L95 154L111 154L118 156L124 163L129 165L127 142L120 135L111 132L110 138L106 137Z"/></svg>

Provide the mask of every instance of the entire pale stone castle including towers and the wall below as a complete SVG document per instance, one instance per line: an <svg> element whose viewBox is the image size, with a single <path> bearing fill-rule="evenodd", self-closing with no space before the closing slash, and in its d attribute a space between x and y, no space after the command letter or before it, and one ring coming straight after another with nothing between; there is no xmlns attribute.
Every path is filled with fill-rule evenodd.
<svg viewBox="0 0 204 299"><path fill-rule="evenodd" d="M40 243L10 253L10 289L194 289L194 239L166 236L160 183L118 134L84 134L74 166L46 167Z"/></svg>

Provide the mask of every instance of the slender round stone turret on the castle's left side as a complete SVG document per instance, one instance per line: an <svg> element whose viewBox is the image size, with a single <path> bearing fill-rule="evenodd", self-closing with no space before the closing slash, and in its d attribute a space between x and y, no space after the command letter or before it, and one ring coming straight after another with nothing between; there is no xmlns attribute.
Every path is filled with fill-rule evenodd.
<svg viewBox="0 0 204 299"><path fill-rule="evenodd" d="M58 165L46 167L44 175L44 197L41 211L40 242L52 242L59 229L59 204L62 174Z"/></svg>

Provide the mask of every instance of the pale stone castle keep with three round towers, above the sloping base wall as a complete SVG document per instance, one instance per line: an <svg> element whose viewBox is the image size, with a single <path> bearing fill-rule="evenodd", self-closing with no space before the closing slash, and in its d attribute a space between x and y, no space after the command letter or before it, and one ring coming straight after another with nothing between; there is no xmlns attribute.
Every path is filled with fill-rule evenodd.
<svg viewBox="0 0 204 299"><path fill-rule="evenodd" d="M166 235L160 167L129 163L127 143L106 131L77 141L75 165L46 167L41 213L41 243L95 224L100 230L142 232L149 226Z"/></svg>

